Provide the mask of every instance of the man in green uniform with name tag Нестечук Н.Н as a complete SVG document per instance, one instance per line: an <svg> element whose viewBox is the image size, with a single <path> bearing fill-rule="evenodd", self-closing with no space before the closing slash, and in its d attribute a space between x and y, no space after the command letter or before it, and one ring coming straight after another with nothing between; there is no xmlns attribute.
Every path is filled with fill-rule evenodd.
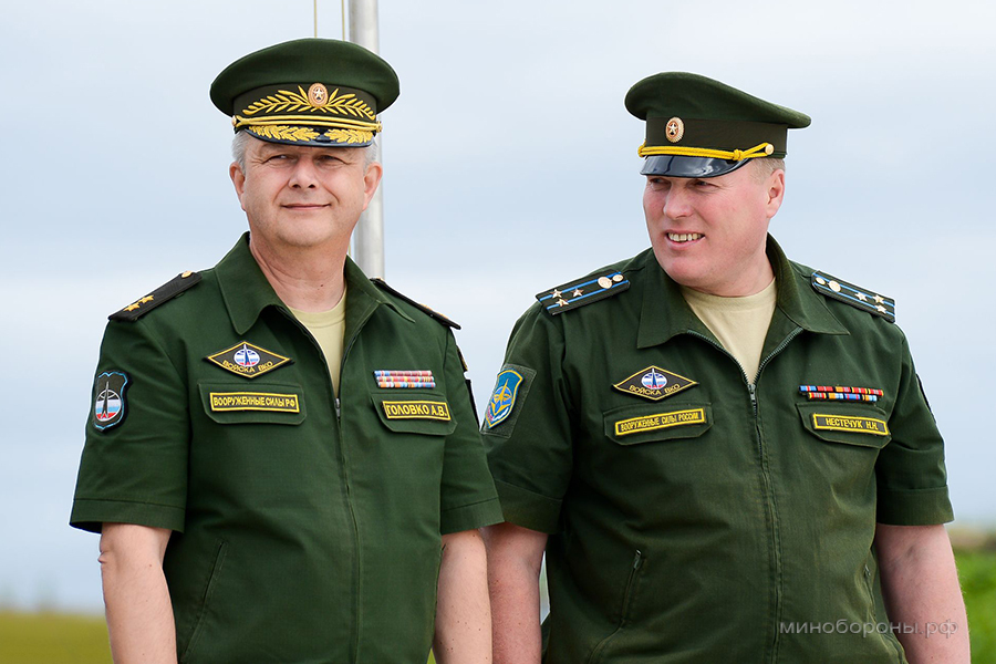
<svg viewBox="0 0 996 664"><path fill-rule="evenodd" d="M894 303L767 232L809 117L686 73L626 107L652 248L537 295L483 424L496 663L967 662Z"/></svg>

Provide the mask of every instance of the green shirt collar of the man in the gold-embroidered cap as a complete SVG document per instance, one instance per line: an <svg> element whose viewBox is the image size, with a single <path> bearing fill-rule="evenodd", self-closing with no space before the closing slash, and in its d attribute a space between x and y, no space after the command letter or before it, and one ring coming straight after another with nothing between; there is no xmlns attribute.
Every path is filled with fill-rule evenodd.
<svg viewBox="0 0 996 664"><path fill-rule="evenodd" d="M256 324L259 314L267 307L287 305L277 297L277 292L267 280L252 252L249 251L249 232L242 234L236 246L215 267L221 298L228 309L231 324L238 334L245 334ZM345 259L344 277L350 297L346 300L346 322L350 310L375 309L386 304L402 318L411 321L411 317L401 311L381 290L371 283L350 257ZM349 326L349 324L346 325Z"/></svg>

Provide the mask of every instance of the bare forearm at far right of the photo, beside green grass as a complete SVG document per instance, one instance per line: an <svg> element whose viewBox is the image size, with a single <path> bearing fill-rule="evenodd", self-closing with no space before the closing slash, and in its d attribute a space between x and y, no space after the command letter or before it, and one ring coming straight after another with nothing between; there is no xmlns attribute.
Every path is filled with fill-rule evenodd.
<svg viewBox="0 0 996 664"><path fill-rule="evenodd" d="M911 664L968 664L968 620L944 526L875 528L882 594ZM920 631L922 633L915 633Z"/></svg>

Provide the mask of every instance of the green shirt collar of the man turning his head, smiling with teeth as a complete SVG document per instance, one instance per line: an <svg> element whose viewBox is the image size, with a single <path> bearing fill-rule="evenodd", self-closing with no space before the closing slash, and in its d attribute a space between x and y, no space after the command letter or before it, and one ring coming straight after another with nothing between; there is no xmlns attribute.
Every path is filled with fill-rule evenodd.
<svg viewBox="0 0 996 664"><path fill-rule="evenodd" d="M809 287L809 276L788 260L771 236L768 236L766 251L778 289L776 309L803 330L818 334L848 334L847 328L830 313L823 298ZM643 269L647 277L636 347L654 346L689 332L713 336L685 302L681 287L661 268L653 251L646 252Z"/></svg>

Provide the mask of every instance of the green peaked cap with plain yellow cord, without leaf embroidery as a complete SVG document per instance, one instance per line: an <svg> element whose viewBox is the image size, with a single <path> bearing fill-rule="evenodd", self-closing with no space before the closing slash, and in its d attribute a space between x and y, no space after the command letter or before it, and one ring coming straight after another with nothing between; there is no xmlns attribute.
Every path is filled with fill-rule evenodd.
<svg viewBox="0 0 996 664"><path fill-rule="evenodd" d="M646 121L641 175L715 177L750 159L786 155L788 129L805 113L698 74L664 72L630 89L626 110Z"/></svg>

